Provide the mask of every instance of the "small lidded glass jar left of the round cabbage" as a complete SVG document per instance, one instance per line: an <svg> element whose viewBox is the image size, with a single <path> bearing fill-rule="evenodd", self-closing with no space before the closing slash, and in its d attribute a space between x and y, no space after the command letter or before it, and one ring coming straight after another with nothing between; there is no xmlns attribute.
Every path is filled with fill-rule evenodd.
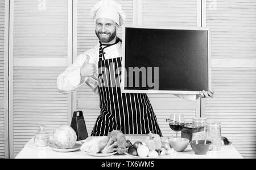
<svg viewBox="0 0 256 170"><path fill-rule="evenodd" d="M49 134L44 131L43 125L39 126L39 131L35 132L34 143L37 147L46 147L49 145Z"/></svg>

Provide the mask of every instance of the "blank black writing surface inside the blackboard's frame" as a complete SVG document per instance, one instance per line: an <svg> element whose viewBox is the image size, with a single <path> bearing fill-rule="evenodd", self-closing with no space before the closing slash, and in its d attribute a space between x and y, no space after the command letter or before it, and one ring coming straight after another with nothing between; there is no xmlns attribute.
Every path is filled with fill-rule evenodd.
<svg viewBox="0 0 256 170"><path fill-rule="evenodd" d="M125 28L125 90L208 91L208 30ZM129 86L130 68L159 68L158 89ZM133 75L133 81L135 81Z"/></svg>

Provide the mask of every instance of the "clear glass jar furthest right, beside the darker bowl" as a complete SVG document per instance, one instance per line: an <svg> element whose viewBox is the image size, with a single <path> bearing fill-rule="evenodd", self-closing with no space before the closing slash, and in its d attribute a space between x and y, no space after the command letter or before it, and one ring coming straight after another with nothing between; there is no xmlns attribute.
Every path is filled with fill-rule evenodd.
<svg viewBox="0 0 256 170"><path fill-rule="evenodd" d="M207 121L205 123L206 137L212 144L209 147L209 151L221 150L221 123L218 121Z"/></svg>

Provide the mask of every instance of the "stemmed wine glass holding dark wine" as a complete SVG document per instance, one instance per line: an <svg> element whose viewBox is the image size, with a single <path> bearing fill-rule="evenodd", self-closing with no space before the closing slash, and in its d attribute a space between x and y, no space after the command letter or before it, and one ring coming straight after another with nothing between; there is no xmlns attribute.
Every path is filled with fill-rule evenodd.
<svg viewBox="0 0 256 170"><path fill-rule="evenodd" d="M181 131L185 125L184 115L183 114L171 114L170 119L166 119L167 122L169 122L169 126L173 131L176 132L176 138L177 133Z"/></svg>

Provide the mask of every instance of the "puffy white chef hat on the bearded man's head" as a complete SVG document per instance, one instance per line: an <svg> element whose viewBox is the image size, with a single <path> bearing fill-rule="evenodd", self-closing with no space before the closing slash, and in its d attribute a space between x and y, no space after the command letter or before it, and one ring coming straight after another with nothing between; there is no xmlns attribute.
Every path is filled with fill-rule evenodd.
<svg viewBox="0 0 256 170"><path fill-rule="evenodd" d="M126 15L122 10L122 6L113 0L102 0L90 10L93 20L98 18L109 18L114 20L118 26L125 23Z"/></svg>

